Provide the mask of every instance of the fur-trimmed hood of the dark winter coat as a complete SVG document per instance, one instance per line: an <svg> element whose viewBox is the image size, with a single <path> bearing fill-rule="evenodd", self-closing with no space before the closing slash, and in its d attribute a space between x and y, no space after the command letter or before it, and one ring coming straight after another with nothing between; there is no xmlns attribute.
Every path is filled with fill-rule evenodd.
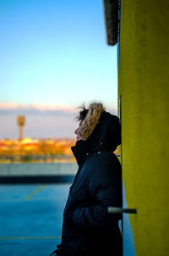
<svg viewBox="0 0 169 256"><path fill-rule="evenodd" d="M106 112L101 103L91 103L85 120L80 126L81 138L72 147L77 162L101 150L113 152L121 144L121 123L116 115Z"/></svg>

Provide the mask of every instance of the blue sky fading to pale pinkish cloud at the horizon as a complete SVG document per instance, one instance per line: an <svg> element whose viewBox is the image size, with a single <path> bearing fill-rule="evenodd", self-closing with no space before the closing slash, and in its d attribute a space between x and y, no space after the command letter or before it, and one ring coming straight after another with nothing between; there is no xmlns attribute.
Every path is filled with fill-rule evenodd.
<svg viewBox="0 0 169 256"><path fill-rule="evenodd" d="M102 0L0 1L0 31L0 137L18 136L20 113L25 136L50 137L71 136L81 103L116 112L117 47L106 45ZM35 116L48 120L43 132L35 132Z"/></svg>

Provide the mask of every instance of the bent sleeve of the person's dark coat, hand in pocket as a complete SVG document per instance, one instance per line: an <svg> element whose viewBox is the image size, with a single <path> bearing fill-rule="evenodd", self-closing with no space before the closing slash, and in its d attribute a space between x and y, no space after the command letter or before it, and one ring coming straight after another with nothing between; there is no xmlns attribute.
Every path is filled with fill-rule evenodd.
<svg viewBox="0 0 169 256"><path fill-rule="evenodd" d="M97 164L98 165L98 164ZM119 173L118 173L119 172ZM79 228L109 227L117 224L122 214L107 213L108 206L122 207L121 169L111 164L100 164L90 175L89 192L95 198L95 205L74 209L73 225Z"/></svg>

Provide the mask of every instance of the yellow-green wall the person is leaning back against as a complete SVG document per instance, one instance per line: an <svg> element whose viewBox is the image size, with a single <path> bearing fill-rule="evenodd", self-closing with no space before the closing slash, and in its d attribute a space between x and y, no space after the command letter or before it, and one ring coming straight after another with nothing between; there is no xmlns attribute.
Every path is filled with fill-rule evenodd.
<svg viewBox="0 0 169 256"><path fill-rule="evenodd" d="M123 182L137 256L169 253L169 2L122 0Z"/></svg>

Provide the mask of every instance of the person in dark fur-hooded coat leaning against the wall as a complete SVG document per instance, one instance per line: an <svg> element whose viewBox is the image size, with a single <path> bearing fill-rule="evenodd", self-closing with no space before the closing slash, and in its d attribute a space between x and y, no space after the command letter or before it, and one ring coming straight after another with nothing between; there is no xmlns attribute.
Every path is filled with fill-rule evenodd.
<svg viewBox="0 0 169 256"><path fill-rule="evenodd" d="M121 144L121 124L101 103L79 112L72 151L79 170L63 212L62 242L51 255L122 255L118 220L109 206L122 207L122 170L113 153Z"/></svg>

